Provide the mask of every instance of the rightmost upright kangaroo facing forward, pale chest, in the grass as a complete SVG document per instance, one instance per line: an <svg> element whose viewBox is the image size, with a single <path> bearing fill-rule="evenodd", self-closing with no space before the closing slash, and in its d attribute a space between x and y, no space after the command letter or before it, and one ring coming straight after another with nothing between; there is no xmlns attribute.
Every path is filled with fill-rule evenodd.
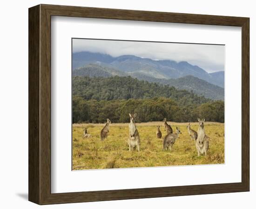
<svg viewBox="0 0 256 209"><path fill-rule="evenodd" d="M197 130L197 140L195 142L195 147L196 147L198 156L200 156L201 154L204 154L206 156L207 151L209 149L209 141L204 130L204 119L200 120L198 118L198 122L199 122L199 127Z"/></svg>

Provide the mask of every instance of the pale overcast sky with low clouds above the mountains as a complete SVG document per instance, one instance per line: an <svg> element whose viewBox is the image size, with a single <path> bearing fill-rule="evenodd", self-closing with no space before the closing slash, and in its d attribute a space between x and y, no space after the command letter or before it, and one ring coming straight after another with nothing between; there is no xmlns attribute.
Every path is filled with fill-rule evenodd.
<svg viewBox="0 0 256 209"><path fill-rule="evenodd" d="M73 52L82 51L187 61L207 72L224 71L225 46L220 45L73 39Z"/></svg>

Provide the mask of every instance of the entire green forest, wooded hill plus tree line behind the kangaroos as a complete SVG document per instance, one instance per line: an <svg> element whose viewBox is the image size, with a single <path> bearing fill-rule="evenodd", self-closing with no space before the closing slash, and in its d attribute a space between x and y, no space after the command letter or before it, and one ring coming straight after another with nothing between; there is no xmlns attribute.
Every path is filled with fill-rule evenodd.
<svg viewBox="0 0 256 209"><path fill-rule="evenodd" d="M73 77L72 91L73 123L125 123L129 112L137 113L137 122L224 122L223 101L131 77Z"/></svg>

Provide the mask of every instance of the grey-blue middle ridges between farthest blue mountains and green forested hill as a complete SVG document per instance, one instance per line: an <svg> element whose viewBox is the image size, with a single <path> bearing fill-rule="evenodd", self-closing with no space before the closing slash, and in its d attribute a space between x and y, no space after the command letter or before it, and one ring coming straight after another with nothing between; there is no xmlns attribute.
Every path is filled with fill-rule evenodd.
<svg viewBox="0 0 256 209"><path fill-rule="evenodd" d="M148 82L154 82L157 84L174 86L177 89L185 89L193 91L194 93L211 98L215 100L224 100L224 89L210 84L200 78L194 76L184 76L176 79L162 79L154 78L150 74L135 71L135 72L122 72L114 68L101 66L97 64L88 64L84 67L73 70L73 76L88 76L88 77L104 77L109 78L113 76L126 77L131 76L132 78L138 78L139 80L146 80Z"/></svg>

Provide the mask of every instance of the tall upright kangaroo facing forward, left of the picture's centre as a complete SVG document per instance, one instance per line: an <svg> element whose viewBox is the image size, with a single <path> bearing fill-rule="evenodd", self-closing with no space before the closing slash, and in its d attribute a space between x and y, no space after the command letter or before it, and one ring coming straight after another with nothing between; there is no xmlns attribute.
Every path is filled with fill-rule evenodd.
<svg viewBox="0 0 256 209"><path fill-rule="evenodd" d="M132 115L129 113L129 116L130 116L129 139L128 139L129 151L135 150L135 148L137 147L139 152L141 140L140 140L139 132L135 125L135 117L137 116L137 114L135 113L134 115Z"/></svg>

